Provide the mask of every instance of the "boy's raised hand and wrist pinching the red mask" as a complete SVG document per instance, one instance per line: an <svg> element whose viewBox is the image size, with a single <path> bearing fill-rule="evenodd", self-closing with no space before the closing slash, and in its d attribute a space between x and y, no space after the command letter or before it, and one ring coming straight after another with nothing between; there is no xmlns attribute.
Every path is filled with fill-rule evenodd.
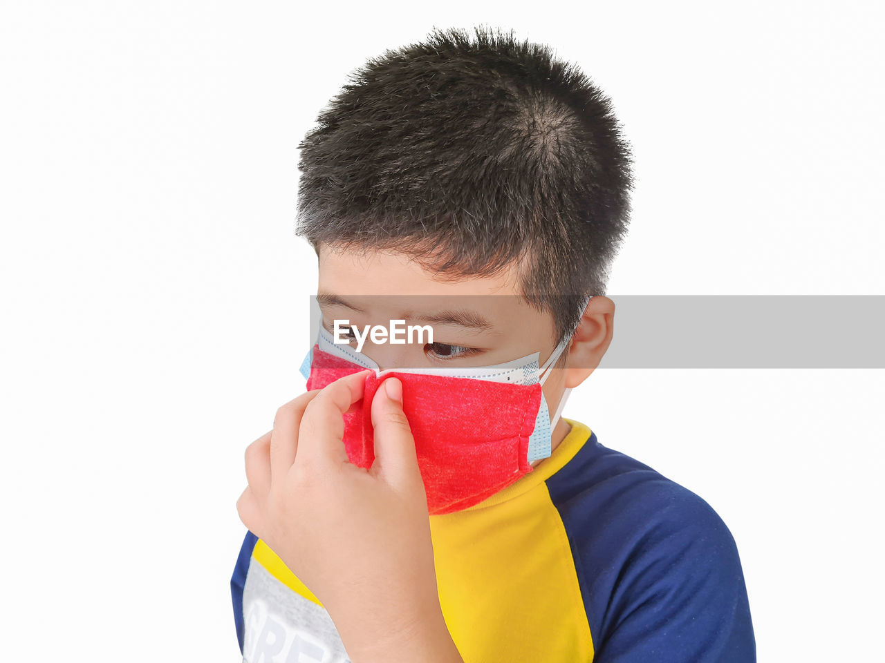
<svg viewBox="0 0 885 663"><path fill-rule="evenodd" d="M350 463L344 415L363 398L362 371L277 410L246 450L243 524L327 609L350 659L461 661L436 587L427 495L389 377L372 401L375 461Z"/></svg>

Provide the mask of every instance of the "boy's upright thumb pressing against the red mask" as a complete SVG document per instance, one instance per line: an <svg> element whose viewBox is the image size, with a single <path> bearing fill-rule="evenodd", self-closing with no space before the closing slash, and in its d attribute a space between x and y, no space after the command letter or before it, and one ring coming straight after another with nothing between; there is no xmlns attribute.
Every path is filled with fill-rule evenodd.
<svg viewBox="0 0 885 663"><path fill-rule="evenodd" d="M372 400L375 461L372 472L388 484L407 487L421 481L415 438L403 411L403 383L388 377ZM423 485L423 484L422 484Z"/></svg>

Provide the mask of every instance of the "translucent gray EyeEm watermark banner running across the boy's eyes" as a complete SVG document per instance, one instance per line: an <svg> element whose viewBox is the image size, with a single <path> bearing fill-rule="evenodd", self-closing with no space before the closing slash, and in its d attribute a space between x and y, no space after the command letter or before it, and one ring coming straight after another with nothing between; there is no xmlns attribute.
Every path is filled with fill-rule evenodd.
<svg viewBox="0 0 885 663"><path fill-rule="evenodd" d="M558 297L563 298L558 311L567 315L576 298ZM599 368L885 368L883 295L609 298L615 305L612 343ZM593 310L598 314L607 309ZM353 327L351 346L382 367L497 365L534 352L543 362L555 345L550 309L532 307L519 295L320 293L319 298L311 297L309 320L311 339L318 338L321 321L329 332L335 331L335 321L339 327L346 321ZM400 330L403 324L430 325L433 342L403 344L397 339L397 324ZM569 365L581 361L593 360L572 355Z"/></svg>

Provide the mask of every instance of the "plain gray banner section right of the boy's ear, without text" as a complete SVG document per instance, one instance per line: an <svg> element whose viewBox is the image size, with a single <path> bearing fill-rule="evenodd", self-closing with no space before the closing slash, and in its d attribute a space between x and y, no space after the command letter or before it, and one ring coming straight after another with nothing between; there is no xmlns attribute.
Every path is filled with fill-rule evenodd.
<svg viewBox="0 0 885 663"><path fill-rule="evenodd" d="M885 368L885 296L612 296L600 368Z"/></svg>

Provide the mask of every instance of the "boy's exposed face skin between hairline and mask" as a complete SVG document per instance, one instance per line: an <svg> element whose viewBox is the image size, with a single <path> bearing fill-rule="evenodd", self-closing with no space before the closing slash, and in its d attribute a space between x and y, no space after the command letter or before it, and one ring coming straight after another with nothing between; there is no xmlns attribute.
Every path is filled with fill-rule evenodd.
<svg viewBox="0 0 885 663"><path fill-rule="evenodd" d="M318 301L322 324L334 320L389 328L430 324L433 344L392 345L366 338L361 352L381 370L488 366L540 353L543 364L556 346L556 327L547 311L519 296L518 272L445 281L395 252L357 252L319 247ZM356 341L351 342L356 346ZM555 405L565 388L563 370L552 370L543 393Z"/></svg>

